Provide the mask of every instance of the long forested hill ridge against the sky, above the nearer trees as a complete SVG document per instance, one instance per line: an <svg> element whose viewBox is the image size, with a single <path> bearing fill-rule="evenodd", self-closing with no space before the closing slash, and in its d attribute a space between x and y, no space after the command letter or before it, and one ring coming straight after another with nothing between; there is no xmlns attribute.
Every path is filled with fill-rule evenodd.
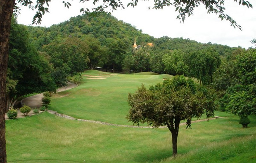
<svg viewBox="0 0 256 163"><path fill-rule="evenodd" d="M131 24L117 20L111 14L101 13L93 17L88 15L79 15L71 17L68 21L53 25L49 28L29 26L28 31L31 34L31 41L36 45L38 50L41 50L43 45L47 45L55 39L64 39L66 37L84 38L86 35L92 38L97 38L101 45L108 45L108 38L121 39L129 48L133 46L134 38L136 37L137 45L146 45L154 43L160 50L198 50L205 47L213 47L222 56L232 54L232 51L237 48L231 48L227 45L202 44L189 38L169 38L163 36L154 38L148 34L142 33L142 30L137 29ZM174 31L175 32L175 31Z"/></svg>

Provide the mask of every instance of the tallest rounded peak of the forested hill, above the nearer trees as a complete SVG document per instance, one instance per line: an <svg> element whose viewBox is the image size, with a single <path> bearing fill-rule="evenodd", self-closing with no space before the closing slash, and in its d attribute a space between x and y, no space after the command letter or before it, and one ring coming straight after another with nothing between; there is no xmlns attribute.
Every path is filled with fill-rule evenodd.
<svg viewBox="0 0 256 163"><path fill-rule="evenodd" d="M79 15L49 28L29 26L28 30L33 38L33 43L38 49L51 43L54 39L71 36L81 39L85 36L97 38L103 46L108 44L109 38L121 39L128 47L133 46L135 37L137 43L154 42L154 37L143 34L141 30L119 21L107 13L97 14L93 17Z"/></svg>

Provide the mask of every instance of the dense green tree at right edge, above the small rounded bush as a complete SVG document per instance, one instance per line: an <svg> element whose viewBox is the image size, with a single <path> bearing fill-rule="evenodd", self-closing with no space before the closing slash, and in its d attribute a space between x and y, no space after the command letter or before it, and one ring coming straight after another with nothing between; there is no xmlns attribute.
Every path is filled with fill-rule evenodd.
<svg viewBox="0 0 256 163"><path fill-rule="evenodd" d="M256 50L247 50L237 56L239 84L230 87L226 110L241 118L256 115Z"/></svg>

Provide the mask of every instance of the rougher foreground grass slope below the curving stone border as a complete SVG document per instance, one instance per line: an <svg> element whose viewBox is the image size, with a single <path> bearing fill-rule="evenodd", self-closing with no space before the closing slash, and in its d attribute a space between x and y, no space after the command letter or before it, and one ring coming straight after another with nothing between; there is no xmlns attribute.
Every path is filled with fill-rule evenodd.
<svg viewBox="0 0 256 163"><path fill-rule="evenodd" d="M178 157L167 128L123 128L49 113L6 121L9 163L216 163L256 161L256 116L244 129L238 117L180 126Z"/></svg>

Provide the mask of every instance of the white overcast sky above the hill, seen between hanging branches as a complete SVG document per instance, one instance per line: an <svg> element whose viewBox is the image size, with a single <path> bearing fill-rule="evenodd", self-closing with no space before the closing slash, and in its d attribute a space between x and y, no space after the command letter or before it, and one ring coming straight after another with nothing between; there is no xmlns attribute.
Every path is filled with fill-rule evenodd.
<svg viewBox="0 0 256 163"><path fill-rule="evenodd" d="M67 9L64 8L62 0L52 0L49 3L50 13L43 16L40 26L49 27L52 24L59 24L69 20L70 17L81 14L80 9L82 7L92 7L92 5L87 4L88 2L79 3L79 0L69 0L69 2L72 6ZM155 38L162 36L183 37L201 43L211 42L230 47L248 48L255 47L250 43L250 40L256 38L256 0L249 0L249 2L253 5L253 9L239 6L238 2L233 0L225 1L226 14L229 14L237 21L237 24L242 26L242 31L230 26L228 21L221 21L215 14L207 14L203 5L197 7L194 10L194 15L187 17L184 24L176 19L178 12L175 12L173 6L165 7L163 10L147 9L152 5L145 1L139 1L135 8L118 9L112 15ZM36 11L30 10L28 7L22 7L20 12L18 23L30 25Z"/></svg>

